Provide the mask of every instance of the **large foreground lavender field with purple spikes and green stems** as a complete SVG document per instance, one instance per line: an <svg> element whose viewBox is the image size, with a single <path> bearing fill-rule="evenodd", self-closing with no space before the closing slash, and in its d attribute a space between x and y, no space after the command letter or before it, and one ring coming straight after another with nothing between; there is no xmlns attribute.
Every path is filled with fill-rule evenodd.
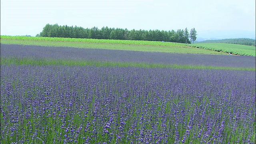
<svg viewBox="0 0 256 144"><path fill-rule="evenodd" d="M255 143L255 71L1 66L1 143Z"/></svg>

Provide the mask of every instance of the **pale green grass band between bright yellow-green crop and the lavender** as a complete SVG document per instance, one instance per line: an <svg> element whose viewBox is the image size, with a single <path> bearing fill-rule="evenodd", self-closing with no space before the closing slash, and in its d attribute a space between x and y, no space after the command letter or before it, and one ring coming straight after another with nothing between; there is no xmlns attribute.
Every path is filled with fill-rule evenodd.
<svg viewBox="0 0 256 144"><path fill-rule="evenodd" d="M212 50L192 48L188 46L146 46L129 44L110 44L110 43L85 43L85 42L58 42L58 41L36 41L36 40L6 40L1 39L2 44L20 44L37 46L63 46L75 48L101 48L110 50L134 50L146 52L170 52L170 53L192 53L192 54L226 54Z"/></svg>

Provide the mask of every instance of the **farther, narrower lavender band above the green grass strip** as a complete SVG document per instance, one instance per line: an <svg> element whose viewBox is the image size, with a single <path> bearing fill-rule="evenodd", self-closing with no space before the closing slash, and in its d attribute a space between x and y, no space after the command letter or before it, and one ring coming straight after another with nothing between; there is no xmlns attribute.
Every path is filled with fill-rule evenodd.
<svg viewBox="0 0 256 144"><path fill-rule="evenodd" d="M89 48L22 46L0 44L1 57L34 57L71 60L96 60L115 62L145 62L160 64L185 64L223 67L255 68L253 56L227 56L210 54L172 54L163 52L136 52L128 50L102 50Z"/></svg>

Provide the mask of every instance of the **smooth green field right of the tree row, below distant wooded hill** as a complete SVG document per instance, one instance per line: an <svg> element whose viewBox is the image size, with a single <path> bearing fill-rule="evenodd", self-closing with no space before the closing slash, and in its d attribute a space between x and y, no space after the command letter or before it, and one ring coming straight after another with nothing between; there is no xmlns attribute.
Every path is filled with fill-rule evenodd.
<svg viewBox="0 0 256 144"><path fill-rule="evenodd" d="M225 43L197 43L190 44L190 46L203 48L206 50L214 50L218 52L225 52L237 55L248 55L256 56L256 47L255 46L246 46L240 44L225 44Z"/></svg>

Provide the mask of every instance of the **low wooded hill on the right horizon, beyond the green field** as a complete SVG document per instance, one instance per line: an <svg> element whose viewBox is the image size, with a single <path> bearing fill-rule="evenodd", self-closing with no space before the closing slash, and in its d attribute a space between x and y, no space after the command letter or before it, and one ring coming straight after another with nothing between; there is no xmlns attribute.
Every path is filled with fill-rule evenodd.
<svg viewBox="0 0 256 144"><path fill-rule="evenodd" d="M196 43L229 43L229 44L242 44L247 46L256 46L256 40L250 38L229 38L223 40L204 40Z"/></svg>

